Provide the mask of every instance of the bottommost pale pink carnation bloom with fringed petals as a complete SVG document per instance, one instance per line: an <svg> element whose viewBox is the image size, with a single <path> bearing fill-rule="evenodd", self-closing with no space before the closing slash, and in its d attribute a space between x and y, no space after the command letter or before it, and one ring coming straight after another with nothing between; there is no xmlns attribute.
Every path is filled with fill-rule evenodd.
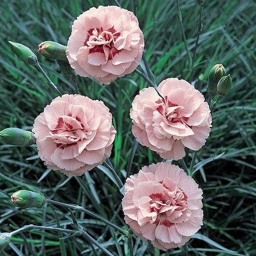
<svg viewBox="0 0 256 256"><path fill-rule="evenodd" d="M125 222L163 251L181 247L203 225L202 190L171 163L144 166L125 183Z"/></svg>

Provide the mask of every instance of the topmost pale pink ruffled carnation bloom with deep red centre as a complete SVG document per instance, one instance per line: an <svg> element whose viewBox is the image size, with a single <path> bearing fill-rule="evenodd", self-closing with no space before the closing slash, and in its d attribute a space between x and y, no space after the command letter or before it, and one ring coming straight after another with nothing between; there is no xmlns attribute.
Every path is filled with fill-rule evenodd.
<svg viewBox="0 0 256 256"><path fill-rule="evenodd" d="M74 21L66 55L78 75L109 84L137 68L143 49L143 33L131 11L99 6Z"/></svg>

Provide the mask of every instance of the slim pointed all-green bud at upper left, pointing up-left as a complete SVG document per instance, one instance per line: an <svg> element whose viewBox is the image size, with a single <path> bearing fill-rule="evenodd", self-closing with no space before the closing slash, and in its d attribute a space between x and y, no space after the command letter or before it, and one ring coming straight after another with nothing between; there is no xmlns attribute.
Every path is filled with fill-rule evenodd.
<svg viewBox="0 0 256 256"><path fill-rule="evenodd" d="M9 44L11 45L13 52L22 60L22 62L25 62L28 65L35 65L38 63L38 58L27 46L19 44L19 42L11 41L9 41Z"/></svg>

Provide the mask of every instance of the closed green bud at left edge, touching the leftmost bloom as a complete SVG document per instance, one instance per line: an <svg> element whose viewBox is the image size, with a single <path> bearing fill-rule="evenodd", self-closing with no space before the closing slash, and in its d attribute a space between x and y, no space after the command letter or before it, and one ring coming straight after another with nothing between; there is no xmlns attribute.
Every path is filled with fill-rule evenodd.
<svg viewBox="0 0 256 256"><path fill-rule="evenodd" d="M9 145L30 146L35 143L34 133L10 127L0 132L0 137Z"/></svg>

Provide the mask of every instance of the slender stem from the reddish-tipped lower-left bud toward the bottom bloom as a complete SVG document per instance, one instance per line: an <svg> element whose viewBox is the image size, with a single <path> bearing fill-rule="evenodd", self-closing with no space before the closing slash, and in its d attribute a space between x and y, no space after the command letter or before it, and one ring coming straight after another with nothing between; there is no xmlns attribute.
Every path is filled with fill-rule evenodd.
<svg viewBox="0 0 256 256"><path fill-rule="evenodd" d="M120 233L122 233L124 235L129 234L129 232L127 230L124 230L123 228L118 227L117 225L113 224L112 222L109 222L105 218L102 218L100 215L97 215L92 211L84 209L82 206L78 206L78 205L74 205L74 204L65 204L65 203L61 203L61 202L54 201L51 199L47 199L47 203L63 206L65 208L73 209L78 212L84 212L84 213L96 218L97 220L102 221L102 222L106 223L107 225L110 225L111 227L117 229L118 231L120 231Z"/></svg>

